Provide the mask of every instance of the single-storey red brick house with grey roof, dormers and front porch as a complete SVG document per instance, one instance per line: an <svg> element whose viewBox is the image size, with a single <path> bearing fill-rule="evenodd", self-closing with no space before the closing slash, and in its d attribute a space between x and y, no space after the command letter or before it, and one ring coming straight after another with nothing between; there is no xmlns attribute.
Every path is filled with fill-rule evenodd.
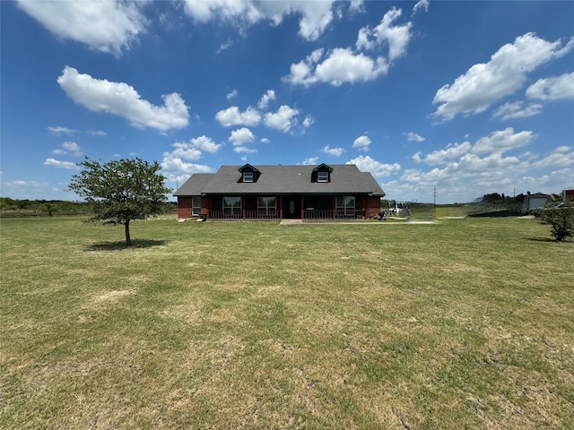
<svg viewBox="0 0 574 430"><path fill-rule="evenodd" d="M366 219L385 192L353 164L222 166L174 193L179 219Z"/></svg>

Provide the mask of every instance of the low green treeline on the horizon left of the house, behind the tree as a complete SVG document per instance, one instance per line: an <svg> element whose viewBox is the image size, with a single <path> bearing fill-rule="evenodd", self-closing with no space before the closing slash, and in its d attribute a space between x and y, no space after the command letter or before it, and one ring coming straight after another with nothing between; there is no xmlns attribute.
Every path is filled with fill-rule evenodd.
<svg viewBox="0 0 574 430"><path fill-rule="evenodd" d="M177 202L164 203L162 213L178 210ZM91 215L84 202L66 200L18 200L0 197L0 216L2 218L17 217L53 217L64 215Z"/></svg>

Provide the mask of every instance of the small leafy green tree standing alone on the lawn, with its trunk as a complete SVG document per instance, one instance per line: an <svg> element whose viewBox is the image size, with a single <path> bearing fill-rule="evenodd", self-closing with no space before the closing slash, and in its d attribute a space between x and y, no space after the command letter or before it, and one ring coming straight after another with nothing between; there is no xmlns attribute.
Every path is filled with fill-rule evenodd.
<svg viewBox="0 0 574 430"><path fill-rule="evenodd" d="M126 226L126 245L131 245L129 222L161 213L166 194L171 193L157 161L119 159L102 164L86 158L80 166L69 189L84 197L94 213L91 220Z"/></svg>

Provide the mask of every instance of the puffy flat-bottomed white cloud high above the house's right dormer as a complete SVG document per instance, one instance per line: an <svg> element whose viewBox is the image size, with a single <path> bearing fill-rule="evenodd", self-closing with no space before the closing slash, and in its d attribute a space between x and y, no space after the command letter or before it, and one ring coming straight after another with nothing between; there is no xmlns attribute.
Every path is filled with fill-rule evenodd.
<svg viewBox="0 0 574 430"><path fill-rule="evenodd" d="M374 60L362 53L353 54L349 48L336 47L318 63L322 53L317 49L300 63L291 64L291 73L283 81L306 86L326 82L338 87L345 82L373 81L388 71L387 61L382 56Z"/></svg>

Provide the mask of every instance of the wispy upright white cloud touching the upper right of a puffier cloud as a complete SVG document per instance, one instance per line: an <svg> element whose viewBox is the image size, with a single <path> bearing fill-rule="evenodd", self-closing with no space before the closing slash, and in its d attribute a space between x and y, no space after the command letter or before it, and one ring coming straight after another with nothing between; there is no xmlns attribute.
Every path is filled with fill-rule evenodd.
<svg viewBox="0 0 574 430"><path fill-rule="evenodd" d="M399 56L403 56L406 52L406 47L411 39L412 22L406 22L403 25L393 26L395 22L403 13L401 9L392 7L385 15L381 22L373 30L369 27L363 27L359 30L357 42L355 46L357 49L375 49L385 44L388 46L388 60L392 62Z"/></svg>

